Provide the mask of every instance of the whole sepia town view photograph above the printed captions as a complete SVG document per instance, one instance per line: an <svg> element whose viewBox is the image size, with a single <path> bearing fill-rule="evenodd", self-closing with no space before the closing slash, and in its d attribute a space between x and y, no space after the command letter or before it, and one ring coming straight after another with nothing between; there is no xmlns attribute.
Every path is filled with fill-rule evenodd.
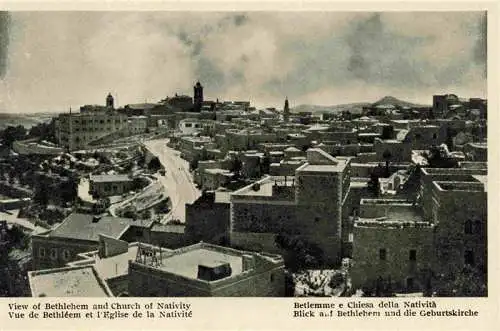
<svg viewBox="0 0 500 331"><path fill-rule="evenodd" d="M0 12L0 296L487 297L487 14Z"/></svg>

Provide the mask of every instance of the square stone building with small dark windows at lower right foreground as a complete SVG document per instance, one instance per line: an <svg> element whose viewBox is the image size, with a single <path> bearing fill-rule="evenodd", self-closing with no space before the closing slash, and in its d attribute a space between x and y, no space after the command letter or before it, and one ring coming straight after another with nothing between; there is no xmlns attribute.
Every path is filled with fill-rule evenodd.
<svg viewBox="0 0 500 331"><path fill-rule="evenodd" d="M424 222L412 203L362 199L353 227L353 286L425 289L434 256L433 232L434 225Z"/></svg>

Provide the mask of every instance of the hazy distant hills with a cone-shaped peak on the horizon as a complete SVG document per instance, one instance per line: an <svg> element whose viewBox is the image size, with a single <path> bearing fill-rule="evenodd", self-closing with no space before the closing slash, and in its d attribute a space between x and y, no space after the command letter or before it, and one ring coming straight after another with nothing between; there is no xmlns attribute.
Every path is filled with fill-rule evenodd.
<svg viewBox="0 0 500 331"><path fill-rule="evenodd" d="M341 105L334 106L318 106L318 105L300 105L297 106L291 111L293 113L300 112L311 112L311 113L340 113L345 110L349 110L351 113L361 113L363 107L376 107L376 106L389 106L393 105L395 107L429 107L427 105L419 105L407 101L399 100L392 96L385 96L382 99L376 102L356 102L356 103L347 103Z"/></svg>

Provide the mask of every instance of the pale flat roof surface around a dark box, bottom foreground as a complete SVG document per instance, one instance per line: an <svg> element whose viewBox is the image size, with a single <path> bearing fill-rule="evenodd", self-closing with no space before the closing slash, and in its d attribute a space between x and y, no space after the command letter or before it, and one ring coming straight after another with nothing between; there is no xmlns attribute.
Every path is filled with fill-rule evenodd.
<svg viewBox="0 0 500 331"><path fill-rule="evenodd" d="M187 278L198 278L199 265L219 265L229 263L231 276L238 275L243 270L243 258L241 255L233 255L210 249L207 247L195 248L166 257L159 267L161 270Z"/></svg>

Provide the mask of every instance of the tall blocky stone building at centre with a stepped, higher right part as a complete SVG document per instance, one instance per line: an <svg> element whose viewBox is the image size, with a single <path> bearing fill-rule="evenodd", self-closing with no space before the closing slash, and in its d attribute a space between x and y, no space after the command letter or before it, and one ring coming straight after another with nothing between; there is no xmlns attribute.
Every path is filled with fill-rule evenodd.
<svg viewBox="0 0 500 331"><path fill-rule="evenodd" d="M268 176L231 194L231 245L279 252L277 235L298 235L338 263L349 182L349 159L309 149L295 177Z"/></svg>

